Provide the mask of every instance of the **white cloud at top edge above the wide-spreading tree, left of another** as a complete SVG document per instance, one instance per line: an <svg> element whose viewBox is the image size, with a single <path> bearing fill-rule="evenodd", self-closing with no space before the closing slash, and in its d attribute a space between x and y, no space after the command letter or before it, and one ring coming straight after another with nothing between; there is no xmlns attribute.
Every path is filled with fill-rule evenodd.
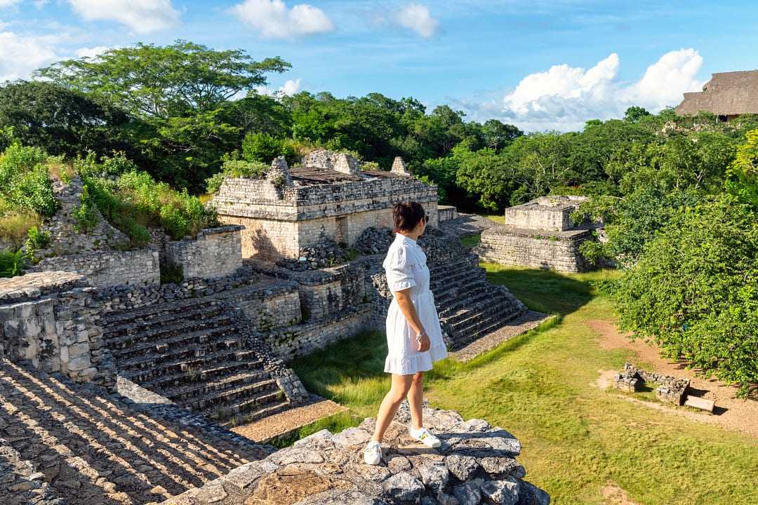
<svg viewBox="0 0 758 505"><path fill-rule="evenodd" d="M2 2L2 0L0 0ZM111 20L135 33L165 30L179 22L171 0L68 0L86 20Z"/></svg>

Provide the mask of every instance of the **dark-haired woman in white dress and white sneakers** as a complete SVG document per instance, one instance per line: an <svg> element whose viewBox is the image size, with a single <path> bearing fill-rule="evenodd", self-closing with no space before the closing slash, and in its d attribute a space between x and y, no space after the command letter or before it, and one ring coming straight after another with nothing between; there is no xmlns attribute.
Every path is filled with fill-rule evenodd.
<svg viewBox="0 0 758 505"><path fill-rule="evenodd" d="M439 438L424 428L421 401L424 397L424 372L432 363L447 356L442 329L429 291L426 254L416 244L424 233L428 218L424 207L415 201L395 204L392 209L395 242L387 251L384 270L393 294L387 312L387 347L384 371L392 374L392 387L381 402L374 436L363 451L369 465L381 462L381 441L403 398L411 407L412 438L428 447L440 447Z"/></svg>

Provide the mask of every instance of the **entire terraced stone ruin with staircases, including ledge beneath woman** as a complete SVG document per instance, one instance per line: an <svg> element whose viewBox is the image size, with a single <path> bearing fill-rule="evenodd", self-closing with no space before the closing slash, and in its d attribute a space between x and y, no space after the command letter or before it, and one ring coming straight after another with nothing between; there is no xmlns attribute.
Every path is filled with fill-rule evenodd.
<svg viewBox="0 0 758 505"><path fill-rule="evenodd" d="M465 228L454 210L439 222L434 186L400 161L390 173L356 167L327 151L303 168L274 161L263 179L224 182L215 204L226 226L130 251L105 222L97 238L75 234L81 182L56 184L61 211L45 223L55 254L0 279L0 503L547 505L524 480L513 435L451 411L426 414L439 451L419 450L393 424L402 449L372 468L360 463L370 419L283 450L235 431L321 400L293 357L382 328L395 201L421 201L439 225L420 243L451 350L534 316L487 282L450 232ZM324 236L356 257L271 261L318 249Z"/></svg>

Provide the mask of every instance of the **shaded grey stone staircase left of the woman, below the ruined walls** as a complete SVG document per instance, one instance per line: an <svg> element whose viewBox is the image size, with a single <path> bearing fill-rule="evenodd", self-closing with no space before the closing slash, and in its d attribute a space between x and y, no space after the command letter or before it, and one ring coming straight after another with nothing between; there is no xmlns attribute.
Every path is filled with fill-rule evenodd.
<svg viewBox="0 0 758 505"><path fill-rule="evenodd" d="M233 426L290 407L246 327L228 302L191 298L110 313L104 336L120 376Z"/></svg>

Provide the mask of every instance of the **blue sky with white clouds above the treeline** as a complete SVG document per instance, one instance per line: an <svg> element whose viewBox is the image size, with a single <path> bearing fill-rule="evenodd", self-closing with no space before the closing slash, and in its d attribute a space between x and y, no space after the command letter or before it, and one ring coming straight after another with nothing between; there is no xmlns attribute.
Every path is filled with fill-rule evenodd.
<svg viewBox="0 0 758 505"><path fill-rule="evenodd" d="M758 2L0 0L0 79L174 39L293 64L261 92L381 92L568 130L758 67Z"/></svg>

